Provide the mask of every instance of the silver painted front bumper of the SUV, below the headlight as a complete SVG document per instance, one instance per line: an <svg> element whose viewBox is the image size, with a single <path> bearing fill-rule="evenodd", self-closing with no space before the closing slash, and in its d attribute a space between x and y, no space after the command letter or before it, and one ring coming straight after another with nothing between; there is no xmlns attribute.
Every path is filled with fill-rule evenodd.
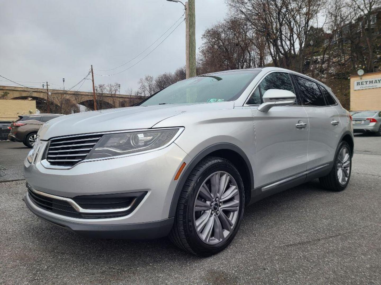
<svg viewBox="0 0 381 285"><path fill-rule="evenodd" d="M139 205L128 215L112 218L74 218L47 211L34 203L28 194L24 198L29 209L39 217L79 231L78 225L90 228L134 228L139 224L155 222L162 225L169 210L177 181L174 176L183 162L190 158L175 143L164 149L98 161L79 163L71 169L47 169L41 164L46 142L42 142L35 162L24 160L24 176L34 189L51 195L74 198L79 195L102 195L130 192L147 192ZM49 217L49 218L46 218ZM57 222L58 221L58 222ZM170 222L168 222L170 223ZM69 226L70 225L70 226ZM117 227L118 225L118 227ZM104 226L104 227L103 227ZM110 226L110 227L109 227ZM146 225L149 228L155 225ZM163 228L163 235L166 235ZM129 231L129 230L128 230ZM155 236L155 235L154 235Z"/></svg>

